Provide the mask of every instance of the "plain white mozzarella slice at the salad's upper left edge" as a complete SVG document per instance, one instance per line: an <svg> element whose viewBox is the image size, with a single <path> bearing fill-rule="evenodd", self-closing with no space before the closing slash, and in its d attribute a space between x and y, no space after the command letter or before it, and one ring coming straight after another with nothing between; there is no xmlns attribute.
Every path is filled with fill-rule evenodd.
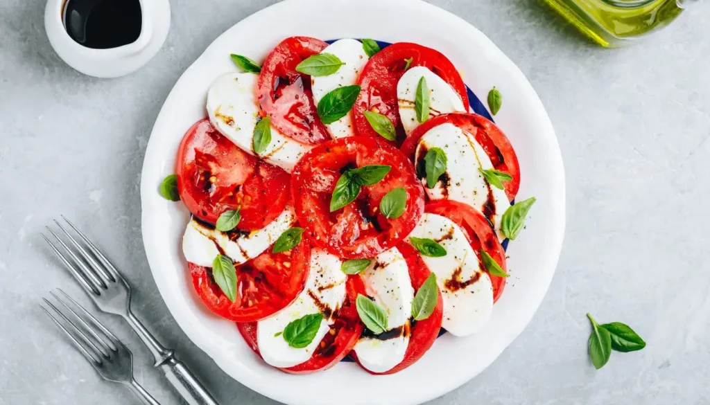
<svg viewBox="0 0 710 405"><path fill-rule="evenodd" d="M254 127L260 119L255 95L257 80L258 75L253 73L227 73L217 77L207 91L209 122L241 150L291 172L312 147L288 138L271 126L271 143L260 154L254 152Z"/></svg>

